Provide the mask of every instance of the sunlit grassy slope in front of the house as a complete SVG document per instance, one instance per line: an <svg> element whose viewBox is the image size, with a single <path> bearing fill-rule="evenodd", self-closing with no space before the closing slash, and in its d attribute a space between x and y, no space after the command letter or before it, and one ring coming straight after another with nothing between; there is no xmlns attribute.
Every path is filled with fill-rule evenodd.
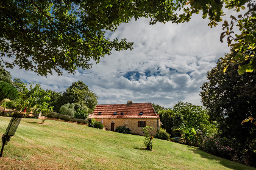
<svg viewBox="0 0 256 170"><path fill-rule="evenodd" d="M0 135L10 118L0 117ZM194 147L102 131L79 124L23 118L4 148L0 169L255 169Z"/></svg>

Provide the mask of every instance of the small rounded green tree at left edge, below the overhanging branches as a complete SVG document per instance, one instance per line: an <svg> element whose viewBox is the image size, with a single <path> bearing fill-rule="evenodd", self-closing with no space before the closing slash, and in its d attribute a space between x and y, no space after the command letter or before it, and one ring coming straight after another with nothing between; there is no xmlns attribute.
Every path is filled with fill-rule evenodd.
<svg viewBox="0 0 256 170"><path fill-rule="evenodd" d="M0 101L4 98L15 100L18 98L18 90L5 81L0 81Z"/></svg>

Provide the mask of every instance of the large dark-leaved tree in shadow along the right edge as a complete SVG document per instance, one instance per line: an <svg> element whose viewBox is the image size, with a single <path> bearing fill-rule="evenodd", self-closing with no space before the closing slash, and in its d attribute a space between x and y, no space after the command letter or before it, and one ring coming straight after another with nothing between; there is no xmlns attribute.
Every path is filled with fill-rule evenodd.
<svg viewBox="0 0 256 170"><path fill-rule="evenodd" d="M224 59L230 60L236 55L232 50ZM256 114L256 73L239 75L238 64L230 65L223 73L224 67L219 60L207 73L208 81L201 87L202 103L209 110L211 120L218 122L219 134L236 144L233 148L253 151L256 149L256 126L241 122Z"/></svg>

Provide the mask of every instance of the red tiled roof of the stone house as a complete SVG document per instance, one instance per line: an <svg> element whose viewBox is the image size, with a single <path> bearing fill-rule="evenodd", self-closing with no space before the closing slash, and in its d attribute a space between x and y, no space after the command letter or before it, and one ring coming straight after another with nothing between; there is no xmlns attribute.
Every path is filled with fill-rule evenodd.
<svg viewBox="0 0 256 170"><path fill-rule="evenodd" d="M159 118L151 103L98 104L91 118ZM99 114L101 112L101 114ZM117 114L114 114L117 112ZM123 112L123 115L121 115ZM143 112L143 114L140 114Z"/></svg>

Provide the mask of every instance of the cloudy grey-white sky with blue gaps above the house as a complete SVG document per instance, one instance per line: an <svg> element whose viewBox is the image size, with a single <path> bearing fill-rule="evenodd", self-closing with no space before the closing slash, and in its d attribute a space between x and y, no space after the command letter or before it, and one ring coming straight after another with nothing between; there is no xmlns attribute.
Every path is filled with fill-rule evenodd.
<svg viewBox="0 0 256 170"><path fill-rule="evenodd" d="M230 15L228 15L230 16ZM62 76L47 77L37 73L7 69L13 78L27 83L40 83L43 89L63 92L75 81L83 81L98 95L98 104L155 103L172 107L178 101L202 106L200 91L207 81L207 72L216 66L218 58L229 53L229 47L219 41L222 24L208 27L208 19L194 15L183 24L157 23L150 19L134 19L121 24L110 39L134 42L133 50L112 52L101 58L90 70Z"/></svg>

